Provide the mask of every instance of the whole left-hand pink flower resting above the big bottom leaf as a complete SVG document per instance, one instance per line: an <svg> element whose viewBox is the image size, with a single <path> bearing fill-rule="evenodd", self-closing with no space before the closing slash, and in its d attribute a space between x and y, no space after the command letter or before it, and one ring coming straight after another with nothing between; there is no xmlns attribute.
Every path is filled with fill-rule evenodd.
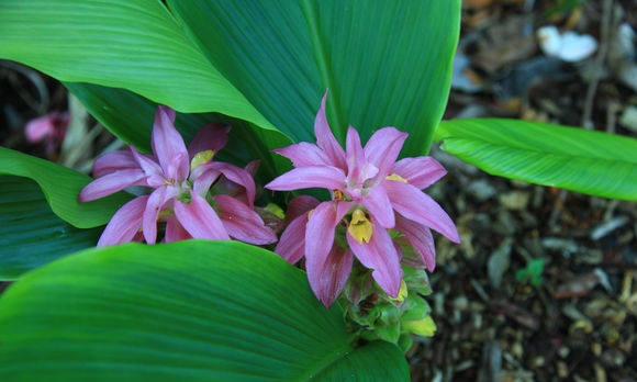
<svg viewBox="0 0 637 382"><path fill-rule="evenodd" d="M252 175L234 165L212 161L227 143L230 126L205 125L186 148L174 126L176 113L158 106L152 133L154 155L131 150L105 154L93 164L96 180L79 194L80 202L104 198L132 186L153 192L124 204L111 218L98 246L145 239L157 240L157 222L166 222L166 241L187 238L270 244L275 233L254 211L256 187ZM223 176L223 177L222 177ZM210 196L217 179L243 188L244 201L226 194Z"/></svg>

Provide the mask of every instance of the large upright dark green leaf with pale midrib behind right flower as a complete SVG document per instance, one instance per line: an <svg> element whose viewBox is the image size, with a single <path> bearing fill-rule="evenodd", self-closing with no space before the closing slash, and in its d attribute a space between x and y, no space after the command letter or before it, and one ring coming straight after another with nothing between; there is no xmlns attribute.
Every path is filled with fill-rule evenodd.
<svg viewBox="0 0 637 382"><path fill-rule="evenodd" d="M383 126L411 134L403 155L428 150L447 103L459 0L169 0L215 68L277 128L313 142L327 117L343 143Z"/></svg>

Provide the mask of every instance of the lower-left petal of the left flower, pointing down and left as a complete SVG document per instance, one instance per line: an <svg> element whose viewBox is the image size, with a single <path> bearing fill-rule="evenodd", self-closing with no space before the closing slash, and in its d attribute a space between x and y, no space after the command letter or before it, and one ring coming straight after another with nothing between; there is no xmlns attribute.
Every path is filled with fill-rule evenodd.
<svg viewBox="0 0 637 382"><path fill-rule="evenodd" d="M111 217L104 232L102 232L98 247L113 246L133 240L142 227L142 218L147 200L148 195L138 196L122 205Z"/></svg>

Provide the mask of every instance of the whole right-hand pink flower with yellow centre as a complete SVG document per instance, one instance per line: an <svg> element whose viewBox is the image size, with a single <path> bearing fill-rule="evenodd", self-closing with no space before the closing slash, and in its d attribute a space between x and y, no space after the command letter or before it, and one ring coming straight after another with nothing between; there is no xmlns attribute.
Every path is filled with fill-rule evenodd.
<svg viewBox="0 0 637 382"><path fill-rule="evenodd" d="M394 127L378 130L362 147L349 126L344 150L327 124L325 97L314 133L316 145L299 143L275 150L291 159L295 169L266 188L325 188L332 200L291 221L275 251L290 262L305 256L310 285L325 306L343 290L354 256L373 269L373 279L388 295L396 297L403 271L389 229L406 237L429 271L435 267L429 228L459 243L454 222L421 191L446 171L431 157L396 161L407 134Z"/></svg>

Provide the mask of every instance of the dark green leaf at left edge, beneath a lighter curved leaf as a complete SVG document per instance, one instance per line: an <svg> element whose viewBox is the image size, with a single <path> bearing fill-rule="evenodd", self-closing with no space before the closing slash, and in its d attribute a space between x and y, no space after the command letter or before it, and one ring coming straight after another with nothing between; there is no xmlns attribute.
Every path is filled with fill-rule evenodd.
<svg viewBox="0 0 637 382"><path fill-rule="evenodd" d="M100 228L79 229L57 217L34 181L4 176L0 184L0 280L98 243Z"/></svg>

